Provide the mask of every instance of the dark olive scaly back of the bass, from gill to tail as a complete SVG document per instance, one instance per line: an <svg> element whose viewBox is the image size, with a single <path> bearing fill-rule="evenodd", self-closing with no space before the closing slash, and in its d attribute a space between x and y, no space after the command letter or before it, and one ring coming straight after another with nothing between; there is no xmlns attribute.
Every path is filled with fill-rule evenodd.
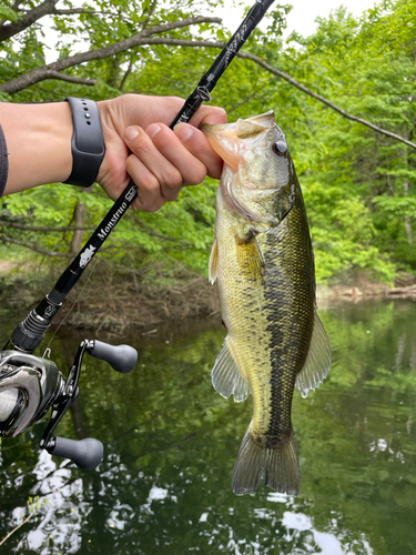
<svg viewBox="0 0 416 555"><path fill-rule="evenodd" d="M265 253L264 296L272 367L271 420L266 431L270 447L284 443L291 435L295 379L310 349L314 316L311 255L301 193L285 225L278 233L268 234Z"/></svg>

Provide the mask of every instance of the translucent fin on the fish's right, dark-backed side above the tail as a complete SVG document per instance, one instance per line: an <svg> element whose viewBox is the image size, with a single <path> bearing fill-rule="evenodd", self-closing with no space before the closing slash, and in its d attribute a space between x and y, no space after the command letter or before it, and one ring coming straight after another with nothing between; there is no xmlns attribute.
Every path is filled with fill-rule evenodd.
<svg viewBox="0 0 416 555"><path fill-rule="evenodd" d="M319 386L328 375L329 367L331 347L328 336L326 335L324 324L315 311L310 352L295 382L303 397L307 397L311 390L316 390Z"/></svg>

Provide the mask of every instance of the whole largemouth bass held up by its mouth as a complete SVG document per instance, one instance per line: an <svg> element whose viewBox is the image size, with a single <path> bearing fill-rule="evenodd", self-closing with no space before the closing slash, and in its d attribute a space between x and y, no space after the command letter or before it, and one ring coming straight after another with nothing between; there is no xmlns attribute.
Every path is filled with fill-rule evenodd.
<svg viewBox="0 0 416 555"><path fill-rule="evenodd" d="M301 472L291 407L326 377L329 343L316 313L306 211L273 112L201 128L223 158L210 281L227 335L212 371L221 395L253 396L234 466L237 495L267 486L297 495Z"/></svg>

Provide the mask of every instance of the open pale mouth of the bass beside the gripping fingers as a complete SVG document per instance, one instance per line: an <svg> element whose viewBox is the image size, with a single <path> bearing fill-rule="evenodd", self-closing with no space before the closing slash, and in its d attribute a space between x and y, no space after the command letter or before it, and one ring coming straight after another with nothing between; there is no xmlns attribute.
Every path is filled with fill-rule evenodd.
<svg viewBox="0 0 416 555"><path fill-rule="evenodd" d="M233 123L203 123L200 130L205 134L211 148L234 172L242 160L245 142L255 140L265 130L275 125L274 112L270 110Z"/></svg>

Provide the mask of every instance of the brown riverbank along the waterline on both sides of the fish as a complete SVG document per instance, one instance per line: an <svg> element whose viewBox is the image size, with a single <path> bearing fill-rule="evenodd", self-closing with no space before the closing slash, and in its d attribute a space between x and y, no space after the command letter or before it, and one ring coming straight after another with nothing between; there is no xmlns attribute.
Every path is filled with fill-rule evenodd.
<svg viewBox="0 0 416 555"><path fill-rule="evenodd" d="M34 269L11 274L0 270L0 302L19 313L29 312L52 289L58 276L41 275ZM416 301L416 278L403 275L390 287L361 276L331 286L318 285L316 293L318 307L381 296ZM92 278L82 278L68 295L54 322L71 327L122 331L185 317L215 316L220 317L217 290L204 276L184 275L155 284L134 274L110 275L104 266L98 265Z"/></svg>

